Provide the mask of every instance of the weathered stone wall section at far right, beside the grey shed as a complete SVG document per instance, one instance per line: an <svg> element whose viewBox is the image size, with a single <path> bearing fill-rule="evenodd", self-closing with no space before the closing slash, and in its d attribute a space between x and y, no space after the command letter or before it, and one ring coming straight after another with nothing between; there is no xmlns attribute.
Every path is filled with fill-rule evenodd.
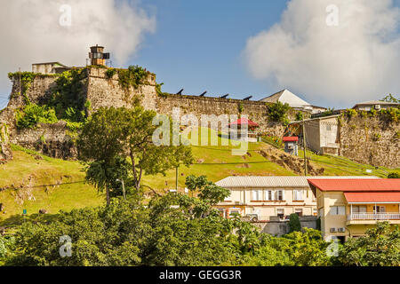
<svg viewBox="0 0 400 284"><path fill-rule="evenodd" d="M342 118L340 155L356 162L400 167L400 122L381 116Z"/></svg>

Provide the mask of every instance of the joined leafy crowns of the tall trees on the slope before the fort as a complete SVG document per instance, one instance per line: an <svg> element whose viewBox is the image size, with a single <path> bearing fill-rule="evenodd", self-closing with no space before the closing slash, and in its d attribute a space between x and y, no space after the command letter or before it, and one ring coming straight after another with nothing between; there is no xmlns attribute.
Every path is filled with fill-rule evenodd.
<svg viewBox="0 0 400 284"><path fill-rule="evenodd" d="M80 158L88 163L86 179L100 190L106 189L108 203L118 158L130 159L131 170L125 178L132 181L136 190L140 190L143 174L165 175L167 170L193 162L188 146L153 143L153 133L158 128L153 124L155 117L156 112L141 106L133 109L101 107L85 123L77 146Z"/></svg>

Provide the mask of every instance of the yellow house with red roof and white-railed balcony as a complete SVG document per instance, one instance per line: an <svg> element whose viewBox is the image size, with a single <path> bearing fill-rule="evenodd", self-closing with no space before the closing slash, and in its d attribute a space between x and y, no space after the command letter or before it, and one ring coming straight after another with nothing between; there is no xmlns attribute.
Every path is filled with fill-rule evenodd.
<svg viewBox="0 0 400 284"><path fill-rule="evenodd" d="M400 179L308 178L324 240L364 235L377 222L400 225Z"/></svg>

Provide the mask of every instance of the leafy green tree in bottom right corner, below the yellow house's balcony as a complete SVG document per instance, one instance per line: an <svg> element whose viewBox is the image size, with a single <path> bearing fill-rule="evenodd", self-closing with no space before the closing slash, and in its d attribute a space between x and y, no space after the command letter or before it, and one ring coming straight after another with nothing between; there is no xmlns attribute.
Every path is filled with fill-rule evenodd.
<svg viewBox="0 0 400 284"><path fill-rule="evenodd" d="M378 222L366 235L346 241L339 253L347 266L399 266L400 230L391 230L388 222Z"/></svg>

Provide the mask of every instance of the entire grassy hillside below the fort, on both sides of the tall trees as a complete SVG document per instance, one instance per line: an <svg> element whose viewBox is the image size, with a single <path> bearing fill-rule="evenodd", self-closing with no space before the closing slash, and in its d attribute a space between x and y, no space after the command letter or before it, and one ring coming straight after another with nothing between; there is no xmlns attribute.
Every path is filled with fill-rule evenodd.
<svg viewBox="0 0 400 284"><path fill-rule="evenodd" d="M201 138L202 133L192 133L189 138ZM203 137L206 133L203 133ZM193 138L192 138L193 137ZM233 155L232 146L218 137L218 146L192 146L195 164L179 169L179 189L183 190L185 178L190 175L205 175L212 181L232 175L292 176L295 175L285 164L268 161L260 151L268 152L280 159L287 158L281 150L266 143L250 143L247 151ZM104 195L97 193L91 185L84 184L84 172L79 162L68 162L46 157L20 146L12 146L14 159L0 165L0 203L4 204L5 214L0 213L0 225L12 224L21 219L23 209L28 215L37 214L39 209L46 209L50 214L60 209L70 210L104 203ZM319 156L307 153L311 165L324 168L324 175L375 175L386 177L385 168L376 170L372 166L351 162L335 156ZM300 151L300 157L302 157ZM299 158L296 158L299 159ZM276 161L276 160L275 160ZM372 170L367 173L366 170ZM400 172L400 169L397 169ZM144 176L143 185L148 185L163 192L175 187L175 170L167 175ZM51 215L49 215L51 216Z"/></svg>

